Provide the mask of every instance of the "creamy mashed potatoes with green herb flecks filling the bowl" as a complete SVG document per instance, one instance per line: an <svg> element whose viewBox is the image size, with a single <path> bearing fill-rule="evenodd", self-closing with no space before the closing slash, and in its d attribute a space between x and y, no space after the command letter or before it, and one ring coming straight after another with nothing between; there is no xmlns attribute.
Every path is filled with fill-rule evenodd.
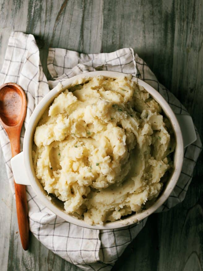
<svg viewBox="0 0 203 271"><path fill-rule="evenodd" d="M54 99L35 131L37 178L65 212L89 224L142 210L158 196L172 164L170 123L130 79L77 82Z"/></svg>

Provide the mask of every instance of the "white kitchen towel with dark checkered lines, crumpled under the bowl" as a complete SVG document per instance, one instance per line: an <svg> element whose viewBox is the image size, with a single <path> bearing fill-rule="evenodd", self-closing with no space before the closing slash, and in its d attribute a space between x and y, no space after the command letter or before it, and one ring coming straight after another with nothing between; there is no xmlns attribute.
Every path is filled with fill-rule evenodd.
<svg viewBox="0 0 203 271"><path fill-rule="evenodd" d="M47 65L54 78L53 81L47 82L42 71L39 50L34 37L21 32L11 33L0 73L0 85L15 82L24 89L27 95L28 109L21 134L22 144L28 120L39 101L59 81L88 71L108 70L136 75L157 89L175 113L188 114L179 100L158 83L146 63L137 54L134 55L131 48L120 49L112 53L89 55L50 48ZM0 128L0 142L6 170L14 193L10 144L6 132L2 127ZM200 151L201 141L197 133L197 141L185 149L179 181L169 199L159 208L158 212L167 210L184 199ZM31 232L51 251L83 270L110 270L146 222L145 219L138 225L115 230L86 229L70 224L54 215L41 205L30 186L27 186L27 197Z"/></svg>

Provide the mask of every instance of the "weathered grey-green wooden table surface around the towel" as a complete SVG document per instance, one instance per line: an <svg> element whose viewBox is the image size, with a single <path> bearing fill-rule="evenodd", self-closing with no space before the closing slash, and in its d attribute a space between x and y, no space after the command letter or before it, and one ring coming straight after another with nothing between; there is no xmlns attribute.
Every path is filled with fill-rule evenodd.
<svg viewBox="0 0 203 271"><path fill-rule="evenodd" d="M84 53L132 47L192 115L203 135L202 0L0 0L0 67L12 30L38 40L47 75L48 47ZM0 270L80 270L33 235L19 239L15 201L0 152ZM203 269L202 154L183 203L153 214L112 270Z"/></svg>

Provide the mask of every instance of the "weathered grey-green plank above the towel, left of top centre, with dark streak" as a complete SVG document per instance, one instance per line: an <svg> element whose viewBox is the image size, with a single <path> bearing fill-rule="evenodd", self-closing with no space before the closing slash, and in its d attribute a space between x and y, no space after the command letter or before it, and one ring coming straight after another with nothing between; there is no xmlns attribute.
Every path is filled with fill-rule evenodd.
<svg viewBox="0 0 203 271"><path fill-rule="evenodd" d="M28 5L26 32L37 36L45 75L49 47L99 53L103 1L33 0Z"/></svg>

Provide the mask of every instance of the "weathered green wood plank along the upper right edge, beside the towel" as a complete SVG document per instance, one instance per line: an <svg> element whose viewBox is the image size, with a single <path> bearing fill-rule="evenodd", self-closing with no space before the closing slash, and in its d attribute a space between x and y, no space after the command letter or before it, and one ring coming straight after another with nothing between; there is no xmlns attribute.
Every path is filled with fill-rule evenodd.
<svg viewBox="0 0 203 271"><path fill-rule="evenodd" d="M203 138L203 1L178 1L171 91L192 116ZM194 176L202 176L203 153Z"/></svg>

